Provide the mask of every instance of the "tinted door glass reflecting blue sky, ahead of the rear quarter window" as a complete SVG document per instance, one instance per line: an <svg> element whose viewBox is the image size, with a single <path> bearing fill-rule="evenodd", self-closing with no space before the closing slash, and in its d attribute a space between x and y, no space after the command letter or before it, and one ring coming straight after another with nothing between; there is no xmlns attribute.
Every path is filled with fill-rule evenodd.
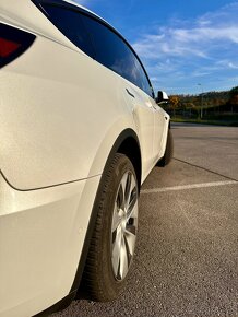
<svg viewBox="0 0 238 317"><path fill-rule="evenodd" d="M82 20L92 36L96 60L152 96L147 77L127 43L103 23L86 15Z"/></svg>

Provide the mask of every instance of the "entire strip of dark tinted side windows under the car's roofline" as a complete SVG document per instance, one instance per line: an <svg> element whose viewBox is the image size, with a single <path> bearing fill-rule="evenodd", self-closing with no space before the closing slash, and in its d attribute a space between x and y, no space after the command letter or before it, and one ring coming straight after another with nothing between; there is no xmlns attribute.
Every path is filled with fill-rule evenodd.
<svg viewBox="0 0 238 317"><path fill-rule="evenodd" d="M138 57L110 27L78 10L44 2L40 5L56 27L81 50L154 96Z"/></svg>

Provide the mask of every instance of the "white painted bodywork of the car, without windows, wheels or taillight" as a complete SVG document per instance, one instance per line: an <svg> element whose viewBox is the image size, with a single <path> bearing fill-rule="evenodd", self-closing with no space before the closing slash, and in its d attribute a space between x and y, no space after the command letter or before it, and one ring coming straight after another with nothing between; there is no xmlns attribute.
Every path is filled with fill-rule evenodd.
<svg viewBox="0 0 238 317"><path fill-rule="evenodd" d="M0 71L0 316L33 316L70 292L118 136L136 134L142 184L164 155L169 116L29 0L1 0L0 22L36 35Z"/></svg>

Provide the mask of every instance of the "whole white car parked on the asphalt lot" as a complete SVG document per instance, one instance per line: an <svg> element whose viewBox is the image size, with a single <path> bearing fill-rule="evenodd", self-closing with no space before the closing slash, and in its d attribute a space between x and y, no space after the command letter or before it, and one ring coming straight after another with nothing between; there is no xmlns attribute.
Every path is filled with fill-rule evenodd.
<svg viewBox="0 0 238 317"><path fill-rule="evenodd" d="M167 95L155 98L115 28L70 1L1 0L0 68L0 316L50 314L80 284L112 300L140 187L171 156Z"/></svg>

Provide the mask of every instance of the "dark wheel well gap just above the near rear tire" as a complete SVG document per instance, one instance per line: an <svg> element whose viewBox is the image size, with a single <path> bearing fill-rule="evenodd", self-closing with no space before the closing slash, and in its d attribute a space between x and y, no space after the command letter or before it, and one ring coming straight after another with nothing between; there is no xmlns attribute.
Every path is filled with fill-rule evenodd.
<svg viewBox="0 0 238 317"><path fill-rule="evenodd" d="M138 187L141 187L141 151L136 140L132 137L127 138L118 148L118 153L127 155L132 165L134 166L134 171L138 177Z"/></svg>

